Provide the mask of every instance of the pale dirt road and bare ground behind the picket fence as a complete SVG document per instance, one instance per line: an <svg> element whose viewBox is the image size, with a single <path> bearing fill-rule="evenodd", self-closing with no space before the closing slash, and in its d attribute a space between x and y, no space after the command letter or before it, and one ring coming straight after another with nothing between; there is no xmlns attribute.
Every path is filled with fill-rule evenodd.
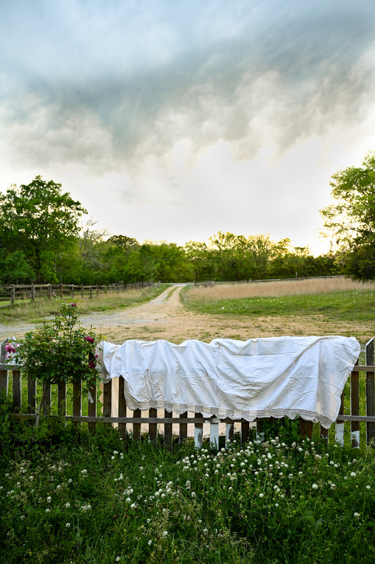
<svg viewBox="0 0 375 564"><path fill-rule="evenodd" d="M167 339L176 344L186 339L209 342L217 337L246 340L250 337L277 337L281 335L326 335L354 336L366 342L368 327L341 322L330 323L323 315L311 317L228 317L191 313L182 305L179 294L184 284L174 284L157 298L141 306L108 312L82 315L84 327L94 327L108 341L121 344L126 339L153 341ZM35 325L24 323L0 326L0 339L8 336L22 337Z"/></svg>

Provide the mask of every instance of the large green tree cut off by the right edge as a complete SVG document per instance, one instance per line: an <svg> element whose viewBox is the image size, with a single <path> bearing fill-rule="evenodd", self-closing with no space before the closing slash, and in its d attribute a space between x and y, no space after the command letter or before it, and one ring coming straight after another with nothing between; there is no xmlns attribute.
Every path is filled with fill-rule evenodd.
<svg viewBox="0 0 375 564"><path fill-rule="evenodd" d="M348 274L373 278L375 151L367 154L362 166L340 170L332 179L331 196L336 202L321 210L326 233L332 234L336 239L341 260L347 264ZM367 252L363 252L366 248ZM366 268L362 268L362 261L366 261Z"/></svg>

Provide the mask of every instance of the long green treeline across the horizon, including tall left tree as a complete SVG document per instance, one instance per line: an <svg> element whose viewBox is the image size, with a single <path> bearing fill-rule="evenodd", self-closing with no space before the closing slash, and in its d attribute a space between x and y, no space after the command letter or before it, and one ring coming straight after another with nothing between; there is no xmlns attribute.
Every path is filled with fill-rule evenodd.
<svg viewBox="0 0 375 564"><path fill-rule="evenodd" d="M61 184L41 176L0 194L0 284L133 284L200 282L341 274L334 256L268 235L217 233L184 246L106 237Z"/></svg>

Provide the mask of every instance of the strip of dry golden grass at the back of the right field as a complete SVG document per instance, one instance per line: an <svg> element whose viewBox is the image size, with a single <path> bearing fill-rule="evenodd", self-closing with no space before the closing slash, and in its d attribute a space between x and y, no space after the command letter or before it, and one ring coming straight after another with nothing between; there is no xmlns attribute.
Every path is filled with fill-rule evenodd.
<svg viewBox="0 0 375 564"><path fill-rule="evenodd" d="M215 284L212 287L189 289L189 299L262 298L301 294L322 294L341 290L375 289L375 282L359 282L350 278L311 278L305 280L270 280L269 282L244 282L241 284Z"/></svg>

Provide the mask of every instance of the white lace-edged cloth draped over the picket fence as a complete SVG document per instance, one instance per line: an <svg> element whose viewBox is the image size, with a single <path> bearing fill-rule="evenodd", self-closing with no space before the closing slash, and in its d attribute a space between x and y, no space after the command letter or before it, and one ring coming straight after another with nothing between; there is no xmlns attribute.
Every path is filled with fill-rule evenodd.
<svg viewBox="0 0 375 564"><path fill-rule="evenodd" d="M125 380L131 410L246 419L300 415L330 427L358 356L354 337L102 341L101 374Z"/></svg>

